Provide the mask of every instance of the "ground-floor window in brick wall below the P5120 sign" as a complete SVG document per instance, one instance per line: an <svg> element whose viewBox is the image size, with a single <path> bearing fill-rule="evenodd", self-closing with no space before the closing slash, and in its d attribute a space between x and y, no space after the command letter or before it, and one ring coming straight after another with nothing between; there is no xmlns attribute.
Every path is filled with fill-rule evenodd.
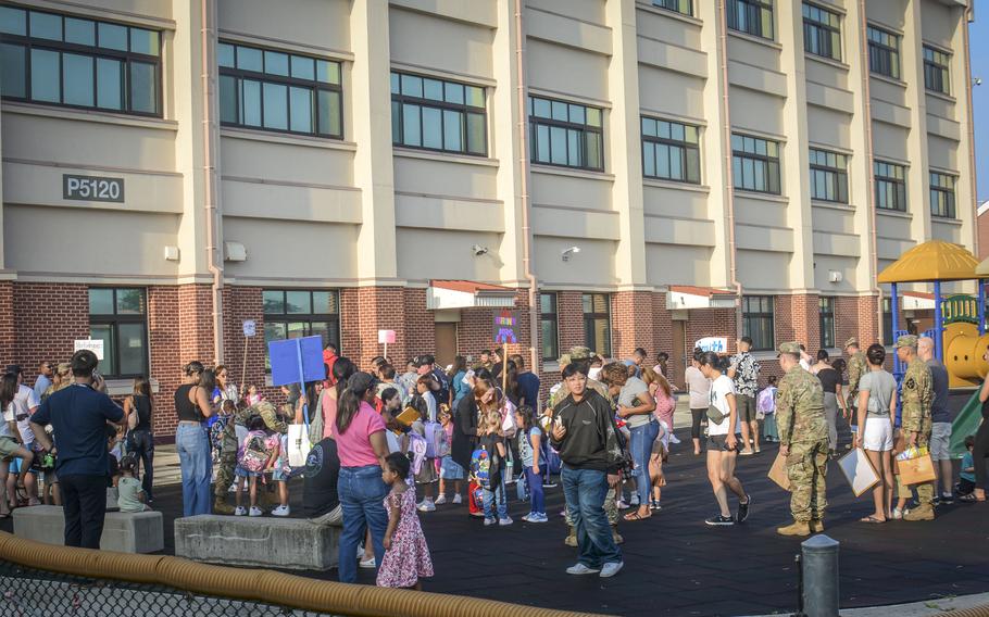
<svg viewBox="0 0 989 617"><path fill-rule="evenodd" d="M89 338L103 341L104 377L148 376L147 315L143 289L89 288Z"/></svg>

